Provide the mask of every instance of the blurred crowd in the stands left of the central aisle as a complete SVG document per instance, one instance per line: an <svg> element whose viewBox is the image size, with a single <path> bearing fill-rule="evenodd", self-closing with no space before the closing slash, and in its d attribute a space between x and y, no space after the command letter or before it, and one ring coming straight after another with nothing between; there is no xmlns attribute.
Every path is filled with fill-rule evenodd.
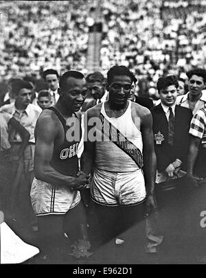
<svg viewBox="0 0 206 278"><path fill-rule="evenodd" d="M0 74L84 69L93 1L3 1Z"/></svg>

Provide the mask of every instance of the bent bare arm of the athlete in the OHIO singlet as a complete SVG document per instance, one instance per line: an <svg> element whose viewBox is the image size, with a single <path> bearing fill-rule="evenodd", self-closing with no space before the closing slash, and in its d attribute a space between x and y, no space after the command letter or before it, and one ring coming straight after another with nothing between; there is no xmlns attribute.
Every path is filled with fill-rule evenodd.
<svg viewBox="0 0 206 278"><path fill-rule="evenodd" d="M34 175L46 183L77 188L87 183L86 175L81 174L78 178L66 176L54 170L50 165L58 132L56 121L51 120L51 115L43 115L38 119L35 130Z"/></svg>

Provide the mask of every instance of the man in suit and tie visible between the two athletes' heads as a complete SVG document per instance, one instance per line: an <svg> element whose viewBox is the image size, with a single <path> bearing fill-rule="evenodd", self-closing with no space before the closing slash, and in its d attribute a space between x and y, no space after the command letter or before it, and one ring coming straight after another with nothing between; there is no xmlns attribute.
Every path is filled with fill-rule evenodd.
<svg viewBox="0 0 206 278"><path fill-rule="evenodd" d="M87 111L89 108L104 102L107 99L105 78L100 71L95 71L88 74L87 78L88 98L90 100L85 102L82 106L82 111Z"/></svg>

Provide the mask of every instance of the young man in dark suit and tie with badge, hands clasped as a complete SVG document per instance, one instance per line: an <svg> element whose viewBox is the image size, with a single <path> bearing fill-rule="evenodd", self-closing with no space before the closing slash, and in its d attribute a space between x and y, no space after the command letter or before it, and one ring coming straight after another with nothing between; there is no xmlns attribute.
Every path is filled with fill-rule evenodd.
<svg viewBox="0 0 206 278"><path fill-rule="evenodd" d="M157 178L173 177L179 170L187 171L192 111L176 105L178 86L175 76L159 78L157 81L161 103L151 111L159 174Z"/></svg>

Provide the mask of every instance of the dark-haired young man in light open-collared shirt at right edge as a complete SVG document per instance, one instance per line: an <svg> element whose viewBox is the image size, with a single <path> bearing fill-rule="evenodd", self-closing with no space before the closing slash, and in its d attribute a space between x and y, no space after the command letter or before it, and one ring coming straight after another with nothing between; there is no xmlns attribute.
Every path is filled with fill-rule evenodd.
<svg viewBox="0 0 206 278"><path fill-rule="evenodd" d="M176 97L176 104L190 108L193 115L206 104L206 93L203 92L206 82L205 69L192 69L187 73L189 92Z"/></svg>

